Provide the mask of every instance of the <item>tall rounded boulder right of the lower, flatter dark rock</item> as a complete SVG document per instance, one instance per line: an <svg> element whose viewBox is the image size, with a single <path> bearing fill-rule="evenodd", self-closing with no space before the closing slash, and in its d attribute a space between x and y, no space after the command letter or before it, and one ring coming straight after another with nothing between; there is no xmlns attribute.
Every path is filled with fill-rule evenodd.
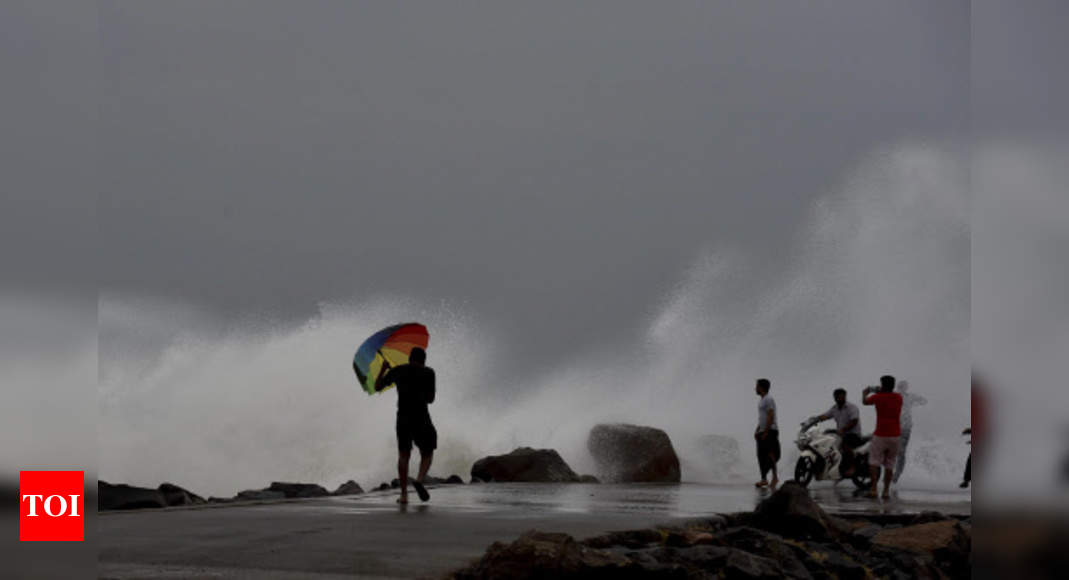
<svg viewBox="0 0 1069 580"><path fill-rule="evenodd" d="M679 457L668 434L624 423L597 425L590 429L587 449L598 464L599 475L610 482L679 483Z"/></svg>

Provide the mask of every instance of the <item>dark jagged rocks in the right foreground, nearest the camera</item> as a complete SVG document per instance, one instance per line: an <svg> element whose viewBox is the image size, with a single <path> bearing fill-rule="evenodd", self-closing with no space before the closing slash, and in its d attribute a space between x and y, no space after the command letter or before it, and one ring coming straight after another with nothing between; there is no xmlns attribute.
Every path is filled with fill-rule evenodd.
<svg viewBox="0 0 1069 580"><path fill-rule="evenodd" d="M854 533L861 530L870 532ZM582 542L531 530L514 542L494 543L448 578L969 578L971 550L971 526L959 518L935 513L835 518L788 486L754 513L681 528L611 532Z"/></svg>

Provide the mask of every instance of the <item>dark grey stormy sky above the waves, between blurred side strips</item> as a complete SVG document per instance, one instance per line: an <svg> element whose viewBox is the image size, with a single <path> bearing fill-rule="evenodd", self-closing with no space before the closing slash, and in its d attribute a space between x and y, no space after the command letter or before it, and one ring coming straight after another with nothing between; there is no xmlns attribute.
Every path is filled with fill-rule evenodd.
<svg viewBox="0 0 1069 580"><path fill-rule="evenodd" d="M105 292L460 304L544 360L967 129L964 2L105 2Z"/></svg>

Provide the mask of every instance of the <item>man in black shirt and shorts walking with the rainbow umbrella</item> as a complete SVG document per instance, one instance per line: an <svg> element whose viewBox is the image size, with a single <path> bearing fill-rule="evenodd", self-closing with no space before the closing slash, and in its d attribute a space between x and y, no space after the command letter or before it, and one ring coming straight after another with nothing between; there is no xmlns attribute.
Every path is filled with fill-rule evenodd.
<svg viewBox="0 0 1069 580"><path fill-rule="evenodd" d="M398 388L398 479L401 482L398 503L408 503L408 458L413 442L419 448L419 475L412 480L412 486L419 499L427 501L431 495L423 487L423 480L438 446L438 432L427 408L434 403L434 370L427 366L427 351L417 346L408 355L406 364L393 367L384 361L375 379L375 390L382 391L390 385Z"/></svg>

